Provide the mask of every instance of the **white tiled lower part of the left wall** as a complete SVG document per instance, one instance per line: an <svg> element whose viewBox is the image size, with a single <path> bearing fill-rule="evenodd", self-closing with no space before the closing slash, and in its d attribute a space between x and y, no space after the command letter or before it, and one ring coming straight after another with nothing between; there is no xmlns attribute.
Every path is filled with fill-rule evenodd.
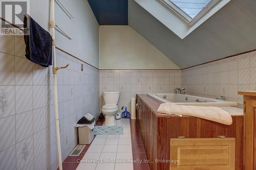
<svg viewBox="0 0 256 170"><path fill-rule="evenodd" d="M24 54L23 38L0 36L0 169L55 170L52 66L33 64ZM62 159L77 144L74 123L99 114L99 70L57 50L57 65L68 62L57 75Z"/></svg>

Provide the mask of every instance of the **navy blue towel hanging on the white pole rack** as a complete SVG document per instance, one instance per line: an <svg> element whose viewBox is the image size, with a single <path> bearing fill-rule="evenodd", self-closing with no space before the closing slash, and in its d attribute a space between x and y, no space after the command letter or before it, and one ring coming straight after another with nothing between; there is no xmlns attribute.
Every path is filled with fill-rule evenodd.
<svg viewBox="0 0 256 170"><path fill-rule="evenodd" d="M24 17L24 28L28 27L29 35L24 35L26 58L48 67L52 65L52 36L29 15Z"/></svg>

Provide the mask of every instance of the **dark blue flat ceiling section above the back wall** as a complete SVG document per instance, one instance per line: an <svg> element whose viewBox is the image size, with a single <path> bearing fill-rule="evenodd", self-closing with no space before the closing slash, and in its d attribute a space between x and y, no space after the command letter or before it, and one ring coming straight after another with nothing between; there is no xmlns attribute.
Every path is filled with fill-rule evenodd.
<svg viewBox="0 0 256 170"><path fill-rule="evenodd" d="M88 0L99 25L128 25L128 0Z"/></svg>

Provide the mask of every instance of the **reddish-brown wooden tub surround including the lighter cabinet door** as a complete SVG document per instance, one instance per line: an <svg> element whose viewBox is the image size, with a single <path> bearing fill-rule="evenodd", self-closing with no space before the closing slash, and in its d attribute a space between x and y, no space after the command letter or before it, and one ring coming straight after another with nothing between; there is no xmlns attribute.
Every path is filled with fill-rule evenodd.
<svg viewBox="0 0 256 170"><path fill-rule="evenodd" d="M197 117L158 113L161 103L147 94L137 94L136 101L137 122L151 170L243 169L243 115L232 115L233 124L228 126ZM208 154L201 154L202 150ZM197 153L200 159L195 159ZM204 161L206 155L215 157ZM175 158L183 162L170 163ZM219 166L214 166L217 161Z"/></svg>

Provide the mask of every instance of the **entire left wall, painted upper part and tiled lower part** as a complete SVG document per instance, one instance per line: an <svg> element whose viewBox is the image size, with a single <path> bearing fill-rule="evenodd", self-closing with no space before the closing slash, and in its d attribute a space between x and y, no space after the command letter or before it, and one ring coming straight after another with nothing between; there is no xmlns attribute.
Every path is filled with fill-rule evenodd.
<svg viewBox="0 0 256 170"><path fill-rule="evenodd" d="M56 5L56 23L72 37L69 40L56 32L57 46L98 67L99 27L88 2L61 2L75 19L70 20ZM30 1L30 15L46 30L49 6L49 0ZM57 76L63 161L77 145L74 124L88 112L98 117L99 70L56 52L58 66L70 63ZM52 66L27 60L22 36L0 36L0 72L0 99L4 99L0 100L0 169L57 169Z"/></svg>

